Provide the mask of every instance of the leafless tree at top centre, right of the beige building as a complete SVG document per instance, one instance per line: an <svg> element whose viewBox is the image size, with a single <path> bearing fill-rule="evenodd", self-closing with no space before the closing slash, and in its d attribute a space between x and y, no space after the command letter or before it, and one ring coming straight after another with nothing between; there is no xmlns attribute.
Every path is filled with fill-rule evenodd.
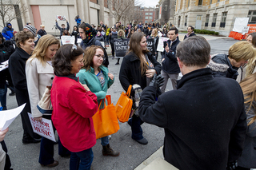
<svg viewBox="0 0 256 170"><path fill-rule="evenodd" d="M128 13L132 14L134 6L140 6L142 4L139 0L110 0L110 3L112 5L110 11L117 18L117 22L121 18L130 18L128 17Z"/></svg>

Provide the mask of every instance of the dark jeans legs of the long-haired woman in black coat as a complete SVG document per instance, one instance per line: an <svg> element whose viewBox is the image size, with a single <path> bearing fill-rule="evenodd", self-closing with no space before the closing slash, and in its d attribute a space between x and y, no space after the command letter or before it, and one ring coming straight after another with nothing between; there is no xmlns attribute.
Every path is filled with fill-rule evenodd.
<svg viewBox="0 0 256 170"><path fill-rule="evenodd" d="M131 137L134 140L141 140L143 138L142 136L143 131L141 127L143 123L144 121L142 121L140 117L137 117L135 115L128 121L128 124L130 125L131 132L132 132Z"/></svg>

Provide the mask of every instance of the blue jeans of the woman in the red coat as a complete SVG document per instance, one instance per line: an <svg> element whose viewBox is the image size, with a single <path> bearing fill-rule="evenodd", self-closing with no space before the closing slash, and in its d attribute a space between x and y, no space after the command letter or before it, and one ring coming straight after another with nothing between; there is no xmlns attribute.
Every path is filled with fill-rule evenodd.
<svg viewBox="0 0 256 170"><path fill-rule="evenodd" d="M70 170L90 170L91 163L94 160L92 148L81 152L71 152Z"/></svg>

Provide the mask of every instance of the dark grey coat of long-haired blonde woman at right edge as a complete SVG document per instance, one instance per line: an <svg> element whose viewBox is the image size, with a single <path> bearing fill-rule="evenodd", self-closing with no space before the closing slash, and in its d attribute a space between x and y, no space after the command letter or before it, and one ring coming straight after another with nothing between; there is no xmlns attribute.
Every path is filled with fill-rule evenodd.
<svg viewBox="0 0 256 170"><path fill-rule="evenodd" d="M253 101L253 106L256 106L256 101ZM256 116L254 107L249 109L246 105L247 125L250 119ZM243 168L256 168L256 121L247 127L245 146L242 156L238 159L238 166Z"/></svg>

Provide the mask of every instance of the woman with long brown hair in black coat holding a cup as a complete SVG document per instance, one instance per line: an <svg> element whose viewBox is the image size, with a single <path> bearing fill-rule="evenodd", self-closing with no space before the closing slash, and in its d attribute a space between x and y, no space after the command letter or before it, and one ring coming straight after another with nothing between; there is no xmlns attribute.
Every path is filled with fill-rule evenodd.
<svg viewBox="0 0 256 170"><path fill-rule="evenodd" d="M155 73L161 73L161 65L156 61L154 55L146 48L146 37L142 33L134 33L130 38L129 50L123 57L120 67L119 80L122 88L127 91L130 85L140 85L144 89L149 85ZM134 89L131 90L134 97ZM133 106L134 108L134 106ZM134 114L128 121L131 126L132 138L139 144L147 144L148 141L142 136L143 121Z"/></svg>

